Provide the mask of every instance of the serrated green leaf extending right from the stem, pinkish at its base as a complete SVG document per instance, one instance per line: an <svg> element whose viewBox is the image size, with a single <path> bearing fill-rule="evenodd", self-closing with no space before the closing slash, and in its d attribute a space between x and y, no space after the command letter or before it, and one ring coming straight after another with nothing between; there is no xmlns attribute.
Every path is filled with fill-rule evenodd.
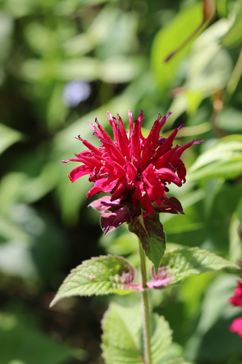
<svg viewBox="0 0 242 364"><path fill-rule="evenodd" d="M167 252L160 262L160 270L164 272L164 268L166 276L171 277L169 284L180 282L191 274L201 274L222 268L240 269L237 264L208 250L188 247Z"/></svg>

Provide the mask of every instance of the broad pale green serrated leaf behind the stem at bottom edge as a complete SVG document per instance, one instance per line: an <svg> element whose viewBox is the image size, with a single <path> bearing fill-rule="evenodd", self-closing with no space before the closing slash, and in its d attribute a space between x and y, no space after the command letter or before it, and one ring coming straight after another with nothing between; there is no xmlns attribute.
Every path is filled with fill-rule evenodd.
<svg viewBox="0 0 242 364"><path fill-rule="evenodd" d="M142 312L111 303L102 321L102 349L107 364L144 363ZM164 317L151 314L152 363L162 362L171 346L171 330Z"/></svg>

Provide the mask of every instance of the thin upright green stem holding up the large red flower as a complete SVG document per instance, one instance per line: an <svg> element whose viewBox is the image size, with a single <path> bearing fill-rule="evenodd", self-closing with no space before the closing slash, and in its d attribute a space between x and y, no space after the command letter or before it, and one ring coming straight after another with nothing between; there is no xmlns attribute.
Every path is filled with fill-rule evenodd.
<svg viewBox="0 0 242 364"><path fill-rule="evenodd" d="M152 364L151 359L151 330L149 322L149 301L147 292L147 276L146 276L146 266L145 266L145 254L144 250L139 244L140 253L140 266L141 266L141 277L142 277L142 303L143 303L143 335L144 335L144 353L145 353L145 363Z"/></svg>

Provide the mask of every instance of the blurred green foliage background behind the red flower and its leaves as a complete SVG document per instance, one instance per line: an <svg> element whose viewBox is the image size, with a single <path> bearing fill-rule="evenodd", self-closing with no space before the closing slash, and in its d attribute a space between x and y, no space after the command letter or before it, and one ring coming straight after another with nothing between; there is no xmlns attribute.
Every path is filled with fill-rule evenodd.
<svg viewBox="0 0 242 364"><path fill-rule="evenodd" d="M199 246L238 263L242 1L218 0L213 23L168 63L200 25L199 1L1 0L0 6L0 363L103 363L100 321L108 303L132 307L139 294L66 298L51 309L49 303L70 269L91 256L124 255L138 268L138 245L124 226L102 237L99 214L87 209L88 178L71 184L66 175L76 165L61 160L83 150L73 139L78 134L96 142L86 124L95 117L110 131L107 110L127 122L128 109L138 116L143 108L144 134L159 112L171 110L164 135L185 123L176 142L205 143L185 151L187 182L171 186L185 215L160 217L168 249ZM74 108L63 102L72 80L91 85L89 98ZM199 364L242 362L242 339L228 331L241 316L228 303L237 279L227 269L151 292L178 356Z"/></svg>

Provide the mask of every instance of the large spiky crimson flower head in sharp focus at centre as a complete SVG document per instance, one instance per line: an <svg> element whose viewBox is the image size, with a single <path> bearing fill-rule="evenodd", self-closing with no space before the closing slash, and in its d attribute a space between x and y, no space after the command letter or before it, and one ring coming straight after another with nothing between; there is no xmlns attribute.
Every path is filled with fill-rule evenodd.
<svg viewBox="0 0 242 364"><path fill-rule="evenodd" d="M182 182L186 181L186 169L180 159L182 152L193 144L203 142L203 140L193 140L186 145L176 145L172 148L176 134L184 124L175 128L168 138L160 137L161 127L170 115L171 112L161 118L159 114L147 138L143 137L141 132L143 110L134 122L131 111L128 112L129 135L119 114L115 118L107 111L114 141L97 119L95 120L97 126L89 123L101 145L96 148L78 136L88 150L75 154L76 158L62 161L83 163L70 172L71 182L90 174L89 181L94 182L94 186L87 193L87 197L95 193L110 192L111 201L119 200L120 206L130 203L138 207L140 203L145 210L144 218L148 214L153 214L155 209L152 202L155 201L160 206L161 201L168 200L167 183L173 182L181 186Z"/></svg>

